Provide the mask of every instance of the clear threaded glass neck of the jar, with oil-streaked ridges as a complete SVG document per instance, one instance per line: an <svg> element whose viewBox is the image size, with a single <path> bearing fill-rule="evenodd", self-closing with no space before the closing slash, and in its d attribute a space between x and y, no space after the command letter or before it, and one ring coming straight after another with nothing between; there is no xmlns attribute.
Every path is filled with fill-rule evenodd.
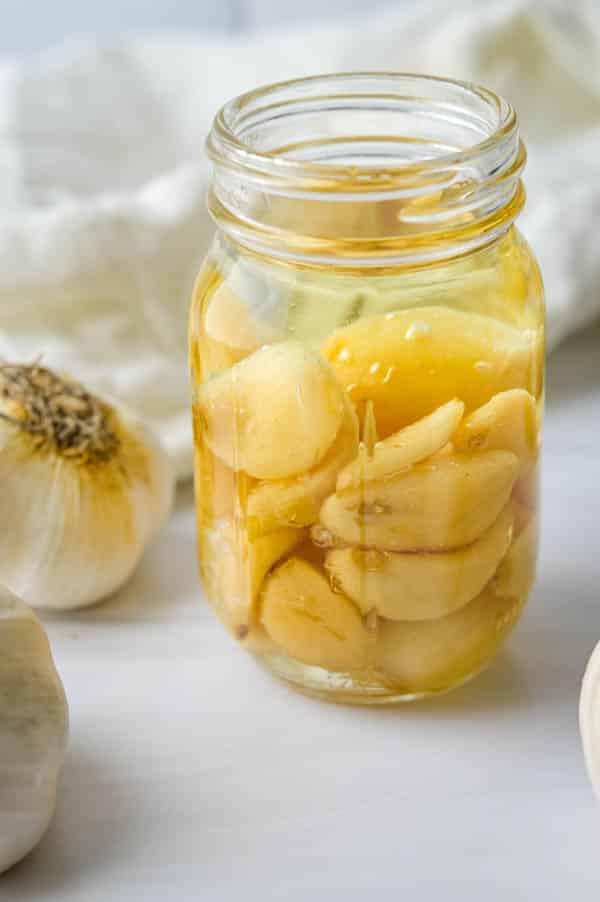
<svg viewBox="0 0 600 902"><path fill-rule="evenodd" d="M221 109L207 150L220 229L306 264L464 254L506 231L524 202L510 104L440 78L353 73L265 87Z"/></svg>

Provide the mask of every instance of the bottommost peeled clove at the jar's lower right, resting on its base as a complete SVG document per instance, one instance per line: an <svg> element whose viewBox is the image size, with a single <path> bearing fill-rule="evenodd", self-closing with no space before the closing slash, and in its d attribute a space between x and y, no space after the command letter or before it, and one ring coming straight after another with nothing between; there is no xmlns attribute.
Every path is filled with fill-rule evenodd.
<svg viewBox="0 0 600 902"><path fill-rule="evenodd" d="M473 676L516 623L524 598L497 595L493 581L439 620L379 621L378 669L405 692L436 692Z"/></svg>

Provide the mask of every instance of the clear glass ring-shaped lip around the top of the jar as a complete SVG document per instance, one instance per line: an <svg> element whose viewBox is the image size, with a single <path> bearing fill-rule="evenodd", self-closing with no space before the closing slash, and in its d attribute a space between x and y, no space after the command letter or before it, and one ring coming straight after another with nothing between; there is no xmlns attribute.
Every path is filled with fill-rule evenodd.
<svg viewBox="0 0 600 902"><path fill-rule="evenodd" d="M280 150L257 149L244 136L244 128L248 128L248 118L252 115L277 116L281 109L289 104L301 101L313 100L323 102L333 98L361 98L369 100L401 100L405 95L390 91L359 92L357 94L343 92L338 95L324 94L327 88L335 89L343 83L373 82L389 84L396 87L404 85L422 85L423 88L450 89L462 94L467 99L479 100L487 110L495 114L495 121L490 123L488 133L480 140L446 153L439 153L430 157L423 157L416 161L400 159L392 163L386 163L384 167L353 166L350 170L347 164L332 164L318 160L297 160L285 156ZM318 94L303 96L297 92L310 91L319 88ZM282 95L282 98L267 107L262 106L263 101L269 101ZM286 97L286 95L290 95ZM296 95L296 96L294 96ZM420 95L417 99L427 103L431 98ZM289 79L263 85L254 90L238 95L224 104L216 114L212 130L207 138L207 153L213 163L232 166L236 169L244 169L247 175L258 178L261 175L271 175L275 180L285 178L287 180L298 179L304 184L314 180L315 189L323 189L327 184L339 183L348 186L352 183L354 188L361 190L381 190L385 183L390 187L394 183L406 184L411 177L435 173L441 169L464 166L471 161L481 158L490 150L497 149L501 144L518 145L518 121L517 114L511 104L489 88L477 85L473 82L460 79L445 78L437 75L422 75L412 72L338 72L323 75L310 75L303 78Z"/></svg>

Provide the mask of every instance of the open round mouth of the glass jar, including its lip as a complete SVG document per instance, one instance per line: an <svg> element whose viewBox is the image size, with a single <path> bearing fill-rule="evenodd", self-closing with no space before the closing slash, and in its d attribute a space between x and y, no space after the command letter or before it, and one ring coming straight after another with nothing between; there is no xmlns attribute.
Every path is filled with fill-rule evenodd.
<svg viewBox="0 0 600 902"><path fill-rule="evenodd" d="M329 134L299 140L310 118L314 122L316 117L321 120L327 117L331 124L331 114L335 113L337 117L340 114L352 117L354 122L357 113L367 112L373 118L378 110L388 120L394 115L404 120L411 115L419 117L425 120L429 132L431 126L437 126L440 131L451 127L457 141L462 128L463 141L466 139L468 143L452 147L439 133L437 138L431 133L415 137L412 129L409 134L394 134L392 129L391 135L373 132L357 135L355 126L352 135ZM282 131L273 128L278 120L285 120L284 127L297 137L295 142L288 139L273 146ZM335 132L335 125L330 131ZM249 175L271 173L275 177L285 175L303 181L315 178L321 184L322 180L339 180L376 187L382 180L393 179L395 174L404 181L416 170L476 160L497 149L500 142L510 141L516 132L514 109L487 88L433 75L353 72L279 82L240 95L217 113L207 149L215 163L229 161L246 168ZM368 145L378 141L390 145L385 164L380 158L373 160L373 154L369 153ZM355 159L336 160L336 156L350 149L360 152L359 148L349 146L359 142L370 159L366 157L360 163ZM315 159L319 153L325 158Z"/></svg>

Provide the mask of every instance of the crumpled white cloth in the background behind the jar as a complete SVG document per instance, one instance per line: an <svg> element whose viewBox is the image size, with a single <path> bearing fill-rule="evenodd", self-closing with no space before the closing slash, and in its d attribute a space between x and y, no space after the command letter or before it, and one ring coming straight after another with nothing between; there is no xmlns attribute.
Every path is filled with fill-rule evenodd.
<svg viewBox="0 0 600 902"><path fill-rule="evenodd" d="M530 148L522 226L549 338L600 312L600 12L586 4L419 4L289 33L64 47L0 68L0 357L43 355L149 419L191 469L186 308L212 226L202 142L242 90L394 69L485 83Z"/></svg>

